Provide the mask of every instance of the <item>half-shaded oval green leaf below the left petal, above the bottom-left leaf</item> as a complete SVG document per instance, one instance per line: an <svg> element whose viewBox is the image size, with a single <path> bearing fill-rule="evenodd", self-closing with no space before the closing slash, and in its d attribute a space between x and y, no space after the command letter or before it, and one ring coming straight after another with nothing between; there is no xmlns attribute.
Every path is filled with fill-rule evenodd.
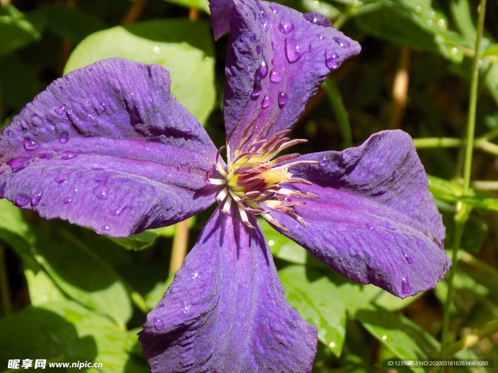
<svg viewBox="0 0 498 373"><path fill-rule="evenodd" d="M38 236L36 259L70 298L119 325L130 319L131 301L116 272L84 244L71 245L46 235Z"/></svg>

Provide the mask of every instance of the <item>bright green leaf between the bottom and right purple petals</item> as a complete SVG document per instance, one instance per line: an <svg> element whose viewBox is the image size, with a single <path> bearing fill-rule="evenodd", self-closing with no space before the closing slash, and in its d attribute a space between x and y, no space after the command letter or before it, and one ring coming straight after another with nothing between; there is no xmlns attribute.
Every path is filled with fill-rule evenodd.
<svg viewBox="0 0 498 373"><path fill-rule="evenodd" d="M290 304L303 319L317 327L318 340L340 356L346 334L346 309L337 286L304 266L288 266L278 274ZM309 277L315 276L317 279L310 280Z"/></svg>

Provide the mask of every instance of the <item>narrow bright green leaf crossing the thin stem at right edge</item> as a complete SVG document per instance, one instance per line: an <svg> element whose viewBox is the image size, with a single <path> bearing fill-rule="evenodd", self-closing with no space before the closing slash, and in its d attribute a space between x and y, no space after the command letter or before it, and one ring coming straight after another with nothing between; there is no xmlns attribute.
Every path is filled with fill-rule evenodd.
<svg viewBox="0 0 498 373"><path fill-rule="evenodd" d="M462 201L476 208L498 211L498 198L493 198L483 190L471 188L467 195L462 195L462 186L435 176L429 176L429 190L436 199L446 202Z"/></svg>

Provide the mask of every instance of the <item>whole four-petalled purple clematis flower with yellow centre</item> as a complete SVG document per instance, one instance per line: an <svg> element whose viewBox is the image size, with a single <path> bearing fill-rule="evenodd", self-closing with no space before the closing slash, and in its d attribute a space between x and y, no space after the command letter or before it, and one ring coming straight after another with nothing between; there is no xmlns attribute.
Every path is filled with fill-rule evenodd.
<svg viewBox="0 0 498 373"><path fill-rule="evenodd" d="M139 339L152 372L310 372L317 330L287 302L254 215L347 278L404 298L451 265L402 131L342 152L280 155L357 42L319 13L212 1L230 31L227 163L156 65L109 59L53 82L0 135L0 197L111 236L219 207Z"/></svg>

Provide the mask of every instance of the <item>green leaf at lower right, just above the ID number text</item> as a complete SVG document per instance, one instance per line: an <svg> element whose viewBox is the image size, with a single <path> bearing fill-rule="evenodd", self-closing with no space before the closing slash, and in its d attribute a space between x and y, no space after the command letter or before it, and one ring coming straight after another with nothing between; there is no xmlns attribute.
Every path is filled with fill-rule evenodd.
<svg viewBox="0 0 498 373"><path fill-rule="evenodd" d="M378 341L399 359L437 357L439 343L406 317L380 308L359 310L357 319ZM413 372L425 372L420 367Z"/></svg>

